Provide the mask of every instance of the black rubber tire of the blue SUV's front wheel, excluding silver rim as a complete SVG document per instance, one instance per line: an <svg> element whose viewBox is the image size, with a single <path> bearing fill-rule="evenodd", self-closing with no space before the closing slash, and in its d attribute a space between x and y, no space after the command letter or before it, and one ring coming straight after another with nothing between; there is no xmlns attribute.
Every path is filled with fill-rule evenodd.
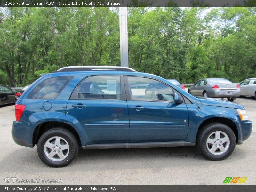
<svg viewBox="0 0 256 192"><path fill-rule="evenodd" d="M221 143L220 140L224 139L224 138L221 138L219 142L216 143L218 145L220 144L221 147L226 148L225 150L223 150L224 152L220 150L218 145L214 147L213 145L210 146L211 145L210 143L207 143L208 137L213 135L214 132L220 132L220 136L223 136L222 134L226 134L226 136L228 136L229 141L227 142L223 141L223 143ZM216 140L216 137L211 140ZM236 146L236 136L234 132L225 124L221 124L221 123L206 124L197 134L196 147L198 151L201 152L205 158L212 161L219 161L219 160L226 159L228 156L232 154L232 152L235 149L235 146ZM213 152L210 152L210 148L211 149L217 148L216 151L213 151L216 154L213 154Z"/></svg>

